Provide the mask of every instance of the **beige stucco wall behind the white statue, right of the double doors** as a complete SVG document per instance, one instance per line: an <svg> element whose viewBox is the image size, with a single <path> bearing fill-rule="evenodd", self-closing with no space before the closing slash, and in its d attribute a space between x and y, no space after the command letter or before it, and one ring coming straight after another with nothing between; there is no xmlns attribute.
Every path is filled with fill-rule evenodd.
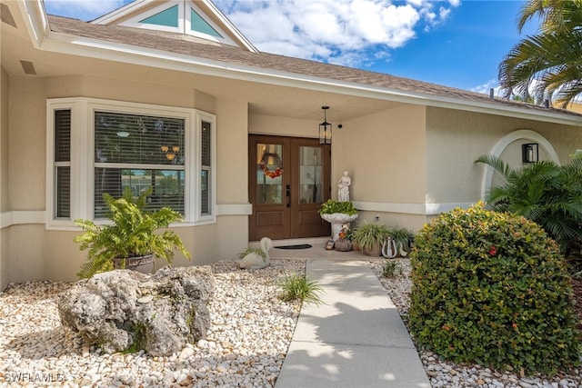
<svg viewBox="0 0 582 388"><path fill-rule="evenodd" d="M386 211L402 205L424 204L425 107L400 105L343 123L334 132L332 183L347 171L352 177L350 199L374 210L360 211L357 224L376 221L390 226L417 229L422 214ZM335 186L332 187L336 198Z"/></svg>

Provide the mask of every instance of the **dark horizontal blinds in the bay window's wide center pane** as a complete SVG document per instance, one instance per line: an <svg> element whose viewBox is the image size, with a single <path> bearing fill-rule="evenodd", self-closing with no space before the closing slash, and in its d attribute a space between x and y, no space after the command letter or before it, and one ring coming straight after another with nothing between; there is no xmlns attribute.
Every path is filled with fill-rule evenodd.
<svg viewBox="0 0 582 388"><path fill-rule="evenodd" d="M147 210L185 214L185 119L95 112L95 218L106 213L103 194L126 187L145 193Z"/></svg>

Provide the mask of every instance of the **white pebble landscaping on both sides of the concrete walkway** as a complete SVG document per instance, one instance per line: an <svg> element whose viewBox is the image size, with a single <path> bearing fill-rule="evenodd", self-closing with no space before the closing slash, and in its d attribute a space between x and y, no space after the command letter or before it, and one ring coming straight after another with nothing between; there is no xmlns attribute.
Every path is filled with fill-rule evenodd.
<svg viewBox="0 0 582 388"><path fill-rule="evenodd" d="M381 276L384 261L370 266L406 322L410 264L396 261L402 274L391 279ZM298 303L278 299L277 283L304 267L303 260L282 259L255 271L239 270L232 261L213 264L209 335L171 357L102 353L60 323L56 301L71 284L12 284L0 293L0 387L273 386L299 313ZM582 387L580 369L552 378L520 376L420 355L433 387Z"/></svg>

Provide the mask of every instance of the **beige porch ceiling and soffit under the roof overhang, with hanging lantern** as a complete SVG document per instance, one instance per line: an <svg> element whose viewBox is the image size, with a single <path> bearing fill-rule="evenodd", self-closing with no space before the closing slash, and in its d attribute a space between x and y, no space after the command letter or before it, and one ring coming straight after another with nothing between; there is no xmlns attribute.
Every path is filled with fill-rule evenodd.
<svg viewBox="0 0 582 388"><path fill-rule="evenodd" d="M321 106L328 105L330 109L327 118L335 124L402 104L322 92L313 90L313 87L271 85L38 50L31 44L25 31L24 20L15 10L15 4L13 2L8 4L15 11L12 15L15 17L17 28L0 23L0 58L2 67L9 75L27 77L92 75L176 88L192 88L217 98L244 101L249 105L250 114L306 120L321 120L323 118ZM20 61L31 62L36 75L25 75Z"/></svg>

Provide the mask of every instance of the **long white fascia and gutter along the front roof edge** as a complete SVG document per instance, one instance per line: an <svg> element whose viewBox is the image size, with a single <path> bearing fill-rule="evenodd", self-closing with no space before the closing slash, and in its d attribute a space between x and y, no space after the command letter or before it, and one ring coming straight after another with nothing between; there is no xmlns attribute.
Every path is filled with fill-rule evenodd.
<svg viewBox="0 0 582 388"><path fill-rule="evenodd" d="M56 33L49 29L45 9L41 0L19 2L19 6L21 7L23 15L28 15L28 17L25 17L26 28L30 33L33 44L35 44L36 48L46 51L69 55L85 55L135 65L170 68L186 73L216 75L272 85L302 87L308 90L342 95L357 95L406 104L422 104L477 113L499 114L548 123L567 125L582 124L581 117L552 112L551 109L547 111L527 110L527 108L495 104L494 102L488 104L443 95L408 92L312 75L299 75L296 73L269 70L251 65L209 60L191 55L177 55L162 50L145 49L144 47L134 45L115 44L82 36ZM31 15L36 16L33 17Z"/></svg>

